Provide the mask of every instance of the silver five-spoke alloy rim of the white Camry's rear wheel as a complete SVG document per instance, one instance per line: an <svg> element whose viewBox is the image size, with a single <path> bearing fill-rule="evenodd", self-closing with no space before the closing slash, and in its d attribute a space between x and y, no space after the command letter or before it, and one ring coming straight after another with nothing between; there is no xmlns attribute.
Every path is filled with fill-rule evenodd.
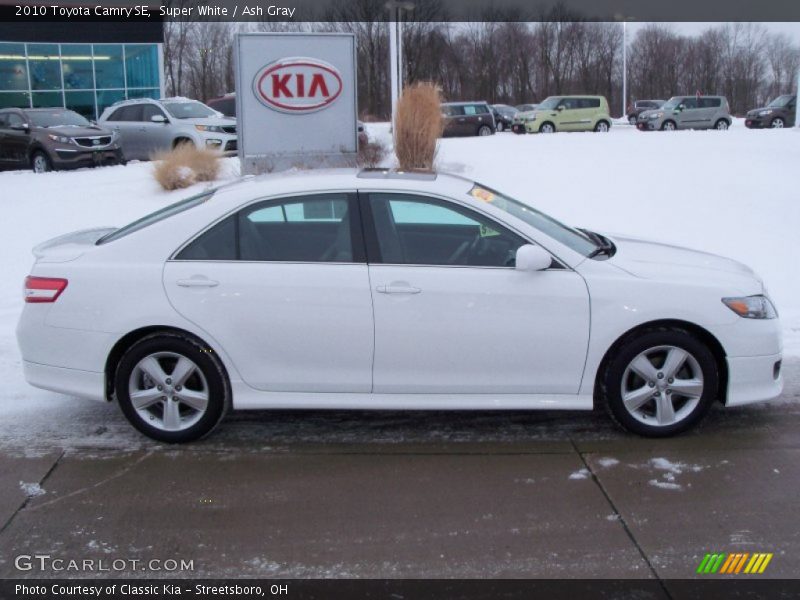
<svg viewBox="0 0 800 600"><path fill-rule="evenodd" d="M162 431L188 429L208 409L203 372L175 352L156 352L140 360L128 380L128 394L142 421Z"/></svg>

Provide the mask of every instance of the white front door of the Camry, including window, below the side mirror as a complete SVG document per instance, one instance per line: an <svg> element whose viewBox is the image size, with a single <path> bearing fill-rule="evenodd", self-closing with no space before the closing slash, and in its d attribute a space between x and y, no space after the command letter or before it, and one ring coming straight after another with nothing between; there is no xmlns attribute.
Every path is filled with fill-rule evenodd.
<svg viewBox="0 0 800 600"><path fill-rule="evenodd" d="M453 202L373 193L362 207L376 393L578 392L589 340L580 275L517 271L528 242Z"/></svg>

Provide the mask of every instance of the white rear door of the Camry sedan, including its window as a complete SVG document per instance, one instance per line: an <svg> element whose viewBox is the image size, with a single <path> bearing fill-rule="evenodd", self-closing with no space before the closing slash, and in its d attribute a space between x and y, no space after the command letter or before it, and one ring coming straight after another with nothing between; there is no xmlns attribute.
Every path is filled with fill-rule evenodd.
<svg viewBox="0 0 800 600"><path fill-rule="evenodd" d="M369 392L373 321L355 194L251 204L164 269L170 302L251 387Z"/></svg>

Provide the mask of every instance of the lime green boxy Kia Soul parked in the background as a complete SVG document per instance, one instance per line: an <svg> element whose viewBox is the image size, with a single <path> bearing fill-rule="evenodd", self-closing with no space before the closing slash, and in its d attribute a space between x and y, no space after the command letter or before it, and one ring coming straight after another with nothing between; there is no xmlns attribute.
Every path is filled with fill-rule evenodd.
<svg viewBox="0 0 800 600"><path fill-rule="evenodd" d="M608 131L611 116L603 96L549 96L525 116L528 133Z"/></svg>

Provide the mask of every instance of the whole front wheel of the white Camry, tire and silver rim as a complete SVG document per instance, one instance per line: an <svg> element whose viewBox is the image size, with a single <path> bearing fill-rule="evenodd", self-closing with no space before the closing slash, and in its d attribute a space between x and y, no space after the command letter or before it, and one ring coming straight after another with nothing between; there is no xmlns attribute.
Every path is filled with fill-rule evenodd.
<svg viewBox="0 0 800 600"><path fill-rule="evenodd" d="M603 373L606 406L623 428L647 437L686 431L717 397L711 350L683 329L653 329L617 350Z"/></svg>

